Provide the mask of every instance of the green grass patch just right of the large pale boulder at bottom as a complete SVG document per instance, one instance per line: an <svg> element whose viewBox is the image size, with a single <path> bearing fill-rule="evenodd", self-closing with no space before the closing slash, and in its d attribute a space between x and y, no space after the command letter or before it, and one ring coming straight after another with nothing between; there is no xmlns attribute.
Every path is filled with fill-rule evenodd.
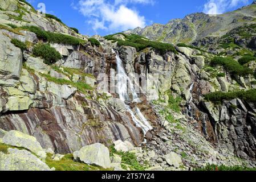
<svg viewBox="0 0 256 182"><path fill-rule="evenodd" d="M129 166L130 169L135 170L135 171L144 171L145 170L145 167L137 161L137 157L135 154L133 154L131 152L116 151L116 149L113 146L109 147L109 152L110 152L110 155L117 154L117 155L121 156L121 158L122 158L121 166L124 169L127 169L127 167L125 167L125 164L126 164Z"/></svg>

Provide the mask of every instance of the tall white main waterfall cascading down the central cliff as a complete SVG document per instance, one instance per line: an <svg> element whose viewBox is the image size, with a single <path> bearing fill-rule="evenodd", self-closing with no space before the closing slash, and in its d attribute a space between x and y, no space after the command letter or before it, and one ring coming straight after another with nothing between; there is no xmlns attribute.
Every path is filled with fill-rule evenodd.
<svg viewBox="0 0 256 182"><path fill-rule="evenodd" d="M120 100L131 101L128 94L129 91L131 91L132 93L132 101L139 100L139 97L137 96L137 93L133 87L133 83L131 79L127 76L127 73L125 72L125 69L124 69L123 62L120 59L118 53L116 53L116 63L117 63L117 90L116 91L119 94ZM127 87L127 81L128 81L128 85L130 85L129 88ZM144 135L149 130L153 129L137 106L135 106L134 111L128 105L126 105L125 107L127 111L131 114L132 120L133 122L135 122L135 125L137 127L140 127L143 130Z"/></svg>

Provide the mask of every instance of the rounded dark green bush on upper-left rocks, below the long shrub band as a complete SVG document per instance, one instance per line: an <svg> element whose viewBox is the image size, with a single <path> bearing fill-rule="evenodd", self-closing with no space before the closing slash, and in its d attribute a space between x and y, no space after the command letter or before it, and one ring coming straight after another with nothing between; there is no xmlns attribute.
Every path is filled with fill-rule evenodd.
<svg viewBox="0 0 256 182"><path fill-rule="evenodd" d="M62 59L60 53L49 44L38 44L34 47L32 53L35 56L42 57L46 64L54 64L56 61Z"/></svg>

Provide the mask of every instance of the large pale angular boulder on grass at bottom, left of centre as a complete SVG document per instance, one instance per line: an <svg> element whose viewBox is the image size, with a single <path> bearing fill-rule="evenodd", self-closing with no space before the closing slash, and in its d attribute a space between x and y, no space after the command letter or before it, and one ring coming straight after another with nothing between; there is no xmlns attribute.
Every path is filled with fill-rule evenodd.
<svg viewBox="0 0 256 182"><path fill-rule="evenodd" d="M79 151L74 152L74 156L77 156L80 161L86 164L100 166L103 168L111 167L109 150L101 143L85 146Z"/></svg>

